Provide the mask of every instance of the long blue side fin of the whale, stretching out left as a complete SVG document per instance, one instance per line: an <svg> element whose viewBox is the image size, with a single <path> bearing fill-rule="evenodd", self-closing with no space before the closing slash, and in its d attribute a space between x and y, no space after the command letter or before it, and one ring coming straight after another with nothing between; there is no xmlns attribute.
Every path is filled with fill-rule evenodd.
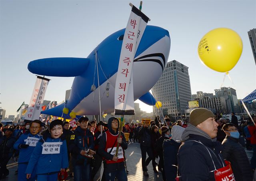
<svg viewBox="0 0 256 181"><path fill-rule="evenodd" d="M76 77L85 72L89 62L89 58L43 58L29 62L28 70L42 76Z"/></svg>

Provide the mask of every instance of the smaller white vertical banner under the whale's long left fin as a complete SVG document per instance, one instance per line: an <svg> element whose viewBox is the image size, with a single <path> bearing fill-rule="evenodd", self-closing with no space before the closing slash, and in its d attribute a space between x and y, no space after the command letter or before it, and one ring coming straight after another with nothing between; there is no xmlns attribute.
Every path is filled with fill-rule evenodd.
<svg viewBox="0 0 256 181"><path fill-rule="evenodd" d="M25 119L31 121L33 121L34 119L39 119L40 113L42 111L44 95L49 84L49 81L50 79L37 76L36 84L32 92L27 112L25 114Z"/></svg>

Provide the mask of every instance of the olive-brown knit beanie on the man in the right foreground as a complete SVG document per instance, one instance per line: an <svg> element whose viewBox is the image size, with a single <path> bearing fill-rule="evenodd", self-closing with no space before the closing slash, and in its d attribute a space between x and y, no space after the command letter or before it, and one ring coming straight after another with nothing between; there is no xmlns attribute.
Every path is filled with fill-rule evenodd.
<svg viewBox="0 0 256 181"><path fill-rule="evenodd" d="M212 111L205 108L196 108L190 112L190 123L194 126L204 122L209 117L215 117Z"/></svg>

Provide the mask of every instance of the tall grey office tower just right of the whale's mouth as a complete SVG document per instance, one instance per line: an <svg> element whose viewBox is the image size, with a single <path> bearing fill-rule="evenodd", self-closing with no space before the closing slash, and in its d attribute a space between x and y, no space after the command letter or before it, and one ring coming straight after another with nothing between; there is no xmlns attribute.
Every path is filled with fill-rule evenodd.
<svg viewBox="0 0 256 181"><path fill-rule="evenodd" d="M191 101L188 67L176 60L168 62L152 90L156 99L162 102L165 112L172 116L185 114L188 101Z"/></svg>

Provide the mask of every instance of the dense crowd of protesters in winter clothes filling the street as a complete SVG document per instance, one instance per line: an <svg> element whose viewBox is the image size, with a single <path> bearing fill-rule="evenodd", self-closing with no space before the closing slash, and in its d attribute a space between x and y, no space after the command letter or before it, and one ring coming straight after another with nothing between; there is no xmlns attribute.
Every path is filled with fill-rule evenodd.
<svg viewBox="0 0 256 181"><path fill-rule="evenodd" d="M256 122L256 116L252 118ZM151 162L164 181L215 181L217 173L230 164L233 173L226 181L253 180L256 126L251 120L238 121L234 113L228 120L197 108L189 119L166 116L162 121L156 117L149 123L125 123L121 133L119 125L116 117L107 123L81 117L76 127L59 119L49 125L39 120L15 127L0 123L0 179L9 175L6 165L13 158L18 160L19 181L64 180L67 174L74 181L92 181L102 161L102 181L127 181L124 150L135 142L140 143L145 177ZM253 152L250 161L245 149Z"/></svg>

